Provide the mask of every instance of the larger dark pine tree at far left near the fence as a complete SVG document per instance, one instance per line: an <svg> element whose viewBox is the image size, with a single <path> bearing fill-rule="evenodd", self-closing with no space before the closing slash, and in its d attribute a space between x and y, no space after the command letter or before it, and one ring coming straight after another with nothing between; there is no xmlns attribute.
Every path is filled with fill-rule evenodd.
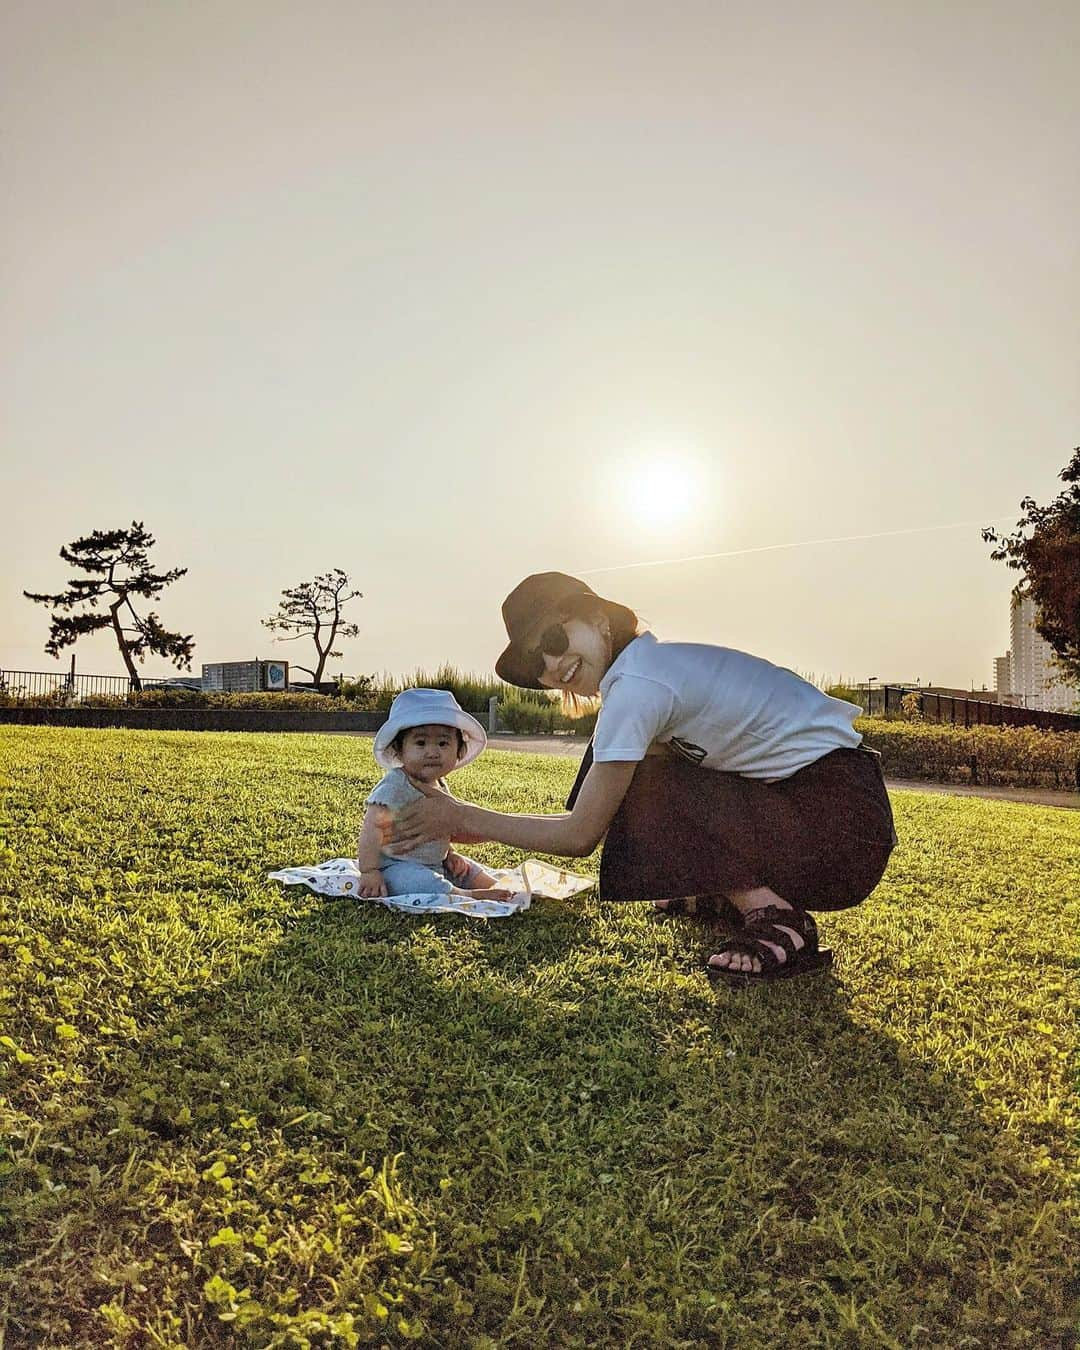
<svg viewBox="0 0 1080 1350"><path fill-rule="evenodd" d="M170 633L162 628L157 614L139 616L132 603L132 597L154 599L188 571L186 567L153 571L153 547L154 536L147 533L142 521L134 520L128 529L96 529L61 548L59 556L65 563L89 575L73 576L58 595L23 591L36 605L53 606L49 641L45 644L50 656L59 656L62 648L73 647L86 633L111 628L135 688L142 688L135 662L146 660L147 652L167 656L177 670L192 668L192 634ZM99 602L107 606L104 614L96 613ZM80 613L70 613L80 608Z"/></svg>

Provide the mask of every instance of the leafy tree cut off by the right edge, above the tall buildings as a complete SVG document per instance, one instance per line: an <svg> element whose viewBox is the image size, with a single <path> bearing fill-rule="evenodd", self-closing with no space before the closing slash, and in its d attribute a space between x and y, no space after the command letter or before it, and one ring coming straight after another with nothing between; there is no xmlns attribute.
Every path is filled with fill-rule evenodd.
<svg viewBox="0 0 1080 1350"><path fill-rule="evenodd" d="M984 529L991 558L1019 571L1013 594L1035 603L1035 632L1053 648L1056 666L1080 683L1080 446L1058 478L1068 487L1048 506L1033 497L1021 502L1015 533Z"/></svg>

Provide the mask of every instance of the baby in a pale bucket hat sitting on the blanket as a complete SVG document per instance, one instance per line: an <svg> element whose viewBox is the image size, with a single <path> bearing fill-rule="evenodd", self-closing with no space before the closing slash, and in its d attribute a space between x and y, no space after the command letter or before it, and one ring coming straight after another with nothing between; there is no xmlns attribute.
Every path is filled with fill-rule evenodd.
<svg viewBox="0 0 1080 1350"><path fill-rule="evenodd" d="M398 853L386 842L394 811L424 795L417 783L444 788L446 775L471 763L486 744L481 724L452 694L406 688L397 695L375 734L375 760L389 772L364 803L356 849L362 896L448 894L495 900L512 894L498 890L494 876L478 863L455 853L450 840L432 840L410 853Z"/></svg>

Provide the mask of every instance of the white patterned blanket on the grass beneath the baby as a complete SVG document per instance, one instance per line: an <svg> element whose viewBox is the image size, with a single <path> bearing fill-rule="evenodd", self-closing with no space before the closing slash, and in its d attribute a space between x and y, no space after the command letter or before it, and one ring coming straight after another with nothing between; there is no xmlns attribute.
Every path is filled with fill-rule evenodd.
<svg viewBox="0 0 1080 1350"><path fill-rule="evenodd" d="M563 868L528 857L518 867L489 867L498 886L514 894L506 900L473 900L464 895L386 895L369 903L385 905L405 914L466 914L471 919L502 919L521 914L533 896L566 900L579 891L597 884L594 876L579 876ZM282 886L306 886L316 895L358 896L360 873L352 857L332 857L317 867L284 867L267 872L271 882Z"/></svg>

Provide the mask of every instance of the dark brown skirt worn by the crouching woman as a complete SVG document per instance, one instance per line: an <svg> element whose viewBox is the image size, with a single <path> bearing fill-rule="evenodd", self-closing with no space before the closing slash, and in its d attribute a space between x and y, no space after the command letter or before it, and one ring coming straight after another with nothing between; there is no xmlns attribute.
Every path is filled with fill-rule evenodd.
<svg viewBox="0 0 1080 1350"><path fill-rule="evenodd" d="M590 764L586 752L567 807ZM767 886L807 910L844 910L869 895L895 844L875 751L832 751L778 783L649 755L608 829L599 898Z"/></svg>

